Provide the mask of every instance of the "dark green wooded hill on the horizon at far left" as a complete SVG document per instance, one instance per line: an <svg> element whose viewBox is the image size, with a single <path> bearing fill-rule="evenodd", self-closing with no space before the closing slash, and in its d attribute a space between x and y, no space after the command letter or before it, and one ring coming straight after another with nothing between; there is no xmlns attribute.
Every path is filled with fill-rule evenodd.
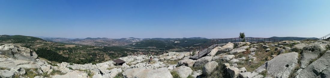
<svg viewBox="0 0 330 78"><path fill-rule="evenodd" d="M31 42L31 41L37 41L37 40L41 40L41 41L45 41L41 38L37 38L37 37L31 37L31 36L23 36L23 35L0 35L0 41L10 41L13 43L24 43L24 42Z"/></svg>

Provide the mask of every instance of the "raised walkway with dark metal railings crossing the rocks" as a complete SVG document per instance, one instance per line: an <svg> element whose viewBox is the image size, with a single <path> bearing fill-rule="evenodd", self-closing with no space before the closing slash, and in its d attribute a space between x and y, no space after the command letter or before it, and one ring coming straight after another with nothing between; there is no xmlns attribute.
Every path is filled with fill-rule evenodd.
<svg viewBox="0 0 330 78"><path fill-rule="evenodd" d="M246 37L244 38L246 42L250 43L271 43L271 42L278 42L276 39L271 38L254 38L254 37ZM205 57L209 52L211 52L217 46L226 45L228 42L237 43L242 42L241 38L226 38L226 39L214 39L210 42L205 43L202 46L198 46L194 49L197 53L193 56L190 56L190 59L199 59Z"/></svg>

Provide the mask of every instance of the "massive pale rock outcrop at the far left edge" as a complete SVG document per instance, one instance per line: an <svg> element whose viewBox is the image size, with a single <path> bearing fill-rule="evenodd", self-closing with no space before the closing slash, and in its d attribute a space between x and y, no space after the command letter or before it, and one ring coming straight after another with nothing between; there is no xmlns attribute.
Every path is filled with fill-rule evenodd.
<svg viewBox="0 0 330 78"><path fill-rule="evenodd" d="M33 51L25 47L14 44L5 44L0 46L0 54L10 58L37 61L38 55Z"/></svg>

